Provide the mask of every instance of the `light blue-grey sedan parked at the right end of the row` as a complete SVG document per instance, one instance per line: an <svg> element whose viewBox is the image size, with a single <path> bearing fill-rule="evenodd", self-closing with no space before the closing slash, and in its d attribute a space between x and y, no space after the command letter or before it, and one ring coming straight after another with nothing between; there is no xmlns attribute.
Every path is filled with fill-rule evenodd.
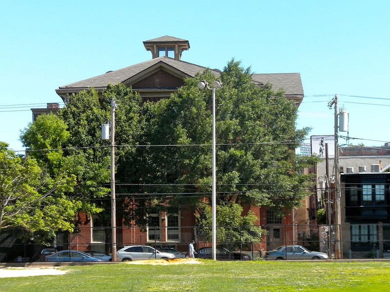
<svg viewBox="0 0 390 292"><path fill-rule="evenodd" d="M325 253L311 252L300 245L282 245L265 253L264 259L329 259Z"/></svg>

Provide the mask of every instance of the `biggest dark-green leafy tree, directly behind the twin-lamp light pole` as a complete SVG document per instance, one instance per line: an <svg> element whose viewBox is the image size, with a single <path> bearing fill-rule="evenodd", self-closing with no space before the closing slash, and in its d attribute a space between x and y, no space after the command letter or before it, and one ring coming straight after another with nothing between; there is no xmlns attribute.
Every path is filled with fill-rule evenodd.
<svg viewBox="0 0 390 292"><path fill-rule="evenodd" d="M147 192L149 200L138 201L144 206L140 213L147 213L152 205L195 206L201 197L210 197L212 92L198 90L202 79L211 84L215 75L206 71L186 79L171 98L145 106L148 129L144 143L151 146L140 149L149 174L143 182L155 185ZM286 99L282 89L273 91L270 84L256 86L250 69L234 60L220 79L223 88L216 91L217 202L267 205L279 213L299 205L311 183L311 177L301 170L312 165L314 158L295 155L308 129L295 128L293 101Z"/></svg>

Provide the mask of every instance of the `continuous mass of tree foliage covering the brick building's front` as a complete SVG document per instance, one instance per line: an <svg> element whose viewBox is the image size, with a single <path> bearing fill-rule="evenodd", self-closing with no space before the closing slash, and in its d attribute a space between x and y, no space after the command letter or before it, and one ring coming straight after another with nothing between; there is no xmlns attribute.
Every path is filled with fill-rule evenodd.
<svg viewBox="0 0 390 292"><path fill-rule="evenodd" d="M308 129L296 129L293 101L271 84L254 84L250 68L235 60L217 78L223 83L216 91L218 205L266 205L279 213L299 205L311 183L301 170L315 159L295 155ZM100 125L110 119L114 98L118 216L144 225L152 209L176 212L186 205L202 212L212 173L212 91L199 91L203 79L212 83L215 73L186 78L156 103L142 103L123 84L109 84L103 93L80 91L57 116L29 125L21 141L28 150L58 149L31 156L53 179L75 176L76 185L64 194L82 204L78 210L101 212L108 223L110 151Z"/></svg>

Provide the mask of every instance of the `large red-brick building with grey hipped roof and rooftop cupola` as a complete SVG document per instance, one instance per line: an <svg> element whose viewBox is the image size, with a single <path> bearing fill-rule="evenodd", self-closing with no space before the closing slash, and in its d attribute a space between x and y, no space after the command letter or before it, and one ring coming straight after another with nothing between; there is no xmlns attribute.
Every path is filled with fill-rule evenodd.
<svg viewBox="0 0 390 292"><path fill-rule="evenodd" d="M143 43L146 50L152 53L151 60L60 86L56 90L57 94L67 103L71 100L72 94L79 91L93 87L101 93L109 83L114 85L123 83L128 87L131 86L134 91L138 91L143 101L158 101L162 98L169 98L172 93L176 92L184 84L184 78L194 77L196 73L206 70L204 66L188 63L181 59L182 53L190 48L188 40L164 36ZM216 78L221 73L217 69L212 69L211 72L215 74ZM304 94L299 73L253 74L252 78L253 82L260 87L271 83L274 90L283 88L285 96L294 100L297 107L303 99ZM286 230L281 226L296 223L293 210L287 212L287 215L282 218L274 216L272 211L265 207L251 207L250 209L259 218L258 224L272 225L266 240L267 246L264 248L275 247L275 245L286 242L287 238L284 237ZM249 208L245 211L249 211ZM139 233L135 229L117 232L117 243L129 244L142 241L149 244L170 244L170 246L177 248L180 242L190 241L194 237L194 230L185 228L185 226L195 225L194 213L195 210L182 208L178 214L151 214L153 224L148 227L146 233ZM81 226L92 227L91 234L86 236L89 238L91 246L104 246L108 239L107 234L101 229L99 217L92 215L86 220L82 219L81 222L83 222ZM117 222L117 226L122 226L122 222ZM294 240L294 238L289 237L288 240Z"/></svg>

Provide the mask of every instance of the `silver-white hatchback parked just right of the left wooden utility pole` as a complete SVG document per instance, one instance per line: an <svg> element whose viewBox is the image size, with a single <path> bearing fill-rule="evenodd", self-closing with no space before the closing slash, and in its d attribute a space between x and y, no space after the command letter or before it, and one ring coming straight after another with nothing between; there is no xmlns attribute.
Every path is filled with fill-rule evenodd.
<svg viewBox="0 0 390 292"><path fill-rule="evenodd" d="M128 245L117 251L118 261L131 261L155 258L175 258L175 255L169 253L161 253L153 247L147 245Z"/></svg>

